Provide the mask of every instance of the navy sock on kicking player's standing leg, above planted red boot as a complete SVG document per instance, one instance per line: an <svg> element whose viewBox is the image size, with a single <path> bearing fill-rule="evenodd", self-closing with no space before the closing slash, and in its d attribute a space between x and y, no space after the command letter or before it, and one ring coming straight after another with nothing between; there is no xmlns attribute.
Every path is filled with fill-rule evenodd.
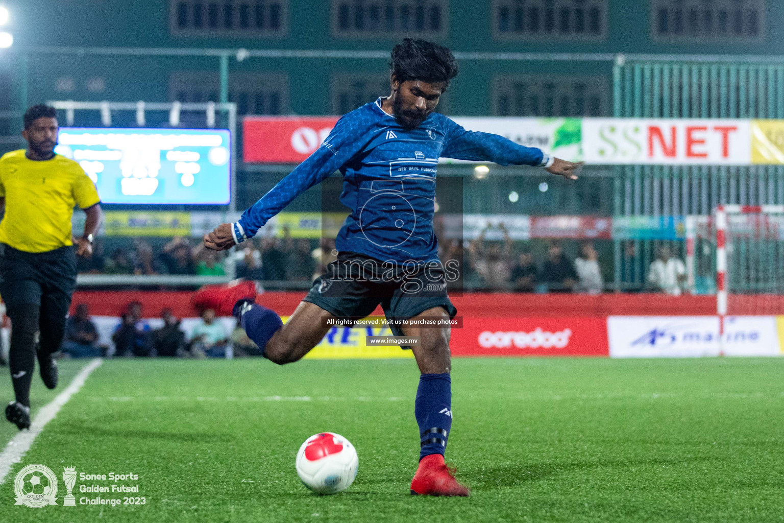
<svg viewBox="0 0 784 523"><path fill-rule="evenodd" d="M429 454L443 456L452 430L452 380L448 374L419 376L414 414L419 425L419 459Z"/></svg>

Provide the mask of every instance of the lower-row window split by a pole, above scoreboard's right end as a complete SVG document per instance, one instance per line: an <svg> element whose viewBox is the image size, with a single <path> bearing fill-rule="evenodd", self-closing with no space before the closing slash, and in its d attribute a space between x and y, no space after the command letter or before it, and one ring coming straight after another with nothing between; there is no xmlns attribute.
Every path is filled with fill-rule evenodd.
<svg viewBox="0 0 784 523"><path fill-rule="evenodd" d="M217 102L220 97L218 74L177 71L169 78L169 100ZM283 73L230 73L229 101L237 104L237 114L287 114L289 79Z"/></svg>

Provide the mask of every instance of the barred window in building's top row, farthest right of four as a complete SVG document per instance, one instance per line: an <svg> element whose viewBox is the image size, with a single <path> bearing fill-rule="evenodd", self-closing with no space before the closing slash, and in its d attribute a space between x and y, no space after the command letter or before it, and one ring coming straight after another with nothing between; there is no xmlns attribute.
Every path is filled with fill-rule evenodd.
<svg viewBox="0 0 784 523"><path fill-rule="evenodd" d="M651 31L664 41L764 39L764 0L653 0Z"/></svg>

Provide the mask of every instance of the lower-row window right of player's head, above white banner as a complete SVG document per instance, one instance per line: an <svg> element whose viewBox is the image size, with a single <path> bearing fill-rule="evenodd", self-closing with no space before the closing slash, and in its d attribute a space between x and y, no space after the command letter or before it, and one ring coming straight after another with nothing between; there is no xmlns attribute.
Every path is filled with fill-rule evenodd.
<svg viewBox="0 0 784 523"><path fill-rule="evenodd" d="M607 78L603 76L496 76L495 116L607 116Z"/></svg>

